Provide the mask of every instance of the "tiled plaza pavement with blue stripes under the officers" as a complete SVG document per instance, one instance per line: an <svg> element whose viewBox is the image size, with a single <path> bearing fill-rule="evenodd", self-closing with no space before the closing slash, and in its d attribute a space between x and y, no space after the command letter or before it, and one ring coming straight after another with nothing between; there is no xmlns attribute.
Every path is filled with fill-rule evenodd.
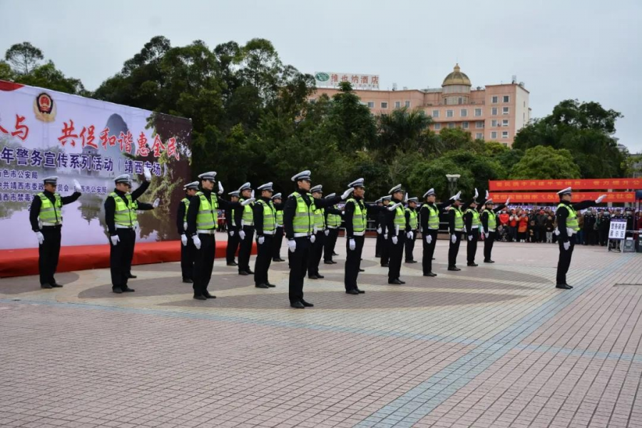
<svg viewBox="0 0 642 428"><path fill-rule="evenodd" d="M134 266L122 295L106 269L0 280L0 426L642 427L642 255L576 247L566 291L556 245L466 267L462 244L449 272L440 240L439 276L388 285L367 239L355 296L337 253L305 310L287 263L264 290L218 259L207 301L178 263Z"/></svg>

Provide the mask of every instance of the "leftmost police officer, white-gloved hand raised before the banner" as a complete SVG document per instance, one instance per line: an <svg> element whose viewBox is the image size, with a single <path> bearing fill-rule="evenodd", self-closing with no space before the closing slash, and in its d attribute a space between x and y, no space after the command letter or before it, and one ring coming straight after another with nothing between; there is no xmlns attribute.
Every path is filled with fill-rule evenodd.
<svg viewBox="0 0 642 428"><path fill-rule="evenodd" d="M29 223L38 239L38 269L40 287L62 287L56 282L54 274L58 268L60 256L60 238L62 229L62 206L74 202L81 196L81 185L73 180L74 192L70 196L61 196L56 192L58 177L44 179L44 190L31 200Z"/></svg>

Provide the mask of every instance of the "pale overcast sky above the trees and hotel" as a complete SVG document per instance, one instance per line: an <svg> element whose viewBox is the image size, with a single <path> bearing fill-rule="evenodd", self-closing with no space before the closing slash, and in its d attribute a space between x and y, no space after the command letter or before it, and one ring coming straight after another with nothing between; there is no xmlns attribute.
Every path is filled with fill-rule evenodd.
<svg viewBox="0 0 642 428"><path fill-rule="evenodd" d="M96 89L151 37L269 39L300 71L371 73L380 87L435 88L457 61L473 86L530 91L533 117L566 98L625 116L616 136L642 151L642 1L0 0L0 52L31 41Z"/></svg>

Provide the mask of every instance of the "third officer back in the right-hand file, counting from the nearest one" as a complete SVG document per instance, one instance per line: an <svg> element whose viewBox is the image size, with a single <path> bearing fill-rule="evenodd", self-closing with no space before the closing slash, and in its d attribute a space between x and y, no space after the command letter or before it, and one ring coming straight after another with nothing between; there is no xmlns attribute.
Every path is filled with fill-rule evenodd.
<svg viewBox="0 0 642 428"><path fill-rule="evenodd" d="M399 279L401 275L401 263L404 255L404 241L406 238L412 238L412 230L406 220L406 213L402 206L404 190L400 184L390 189L392 196L391 203L387 209L386 229L388 232L388 284L405 284L406 282Z"/></svg>

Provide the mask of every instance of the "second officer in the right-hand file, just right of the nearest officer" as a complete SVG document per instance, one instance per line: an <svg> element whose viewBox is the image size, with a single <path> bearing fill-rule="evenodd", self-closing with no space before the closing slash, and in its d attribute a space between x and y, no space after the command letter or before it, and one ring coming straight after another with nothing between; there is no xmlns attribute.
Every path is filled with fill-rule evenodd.
<svg viewBox="0 0 642 428"><path fill-rule="evenodd" d="M363 178L353 181L348 185L352 189L352 197L345 201L345 292L350 295L360 295L365 291L360 290L357 285L357 276L361 269L361 255L363 252L363 243L367 227L367 215L379 213L386 208L383 205L372 205L363 202L365 195L365 185Z"/></svg>

